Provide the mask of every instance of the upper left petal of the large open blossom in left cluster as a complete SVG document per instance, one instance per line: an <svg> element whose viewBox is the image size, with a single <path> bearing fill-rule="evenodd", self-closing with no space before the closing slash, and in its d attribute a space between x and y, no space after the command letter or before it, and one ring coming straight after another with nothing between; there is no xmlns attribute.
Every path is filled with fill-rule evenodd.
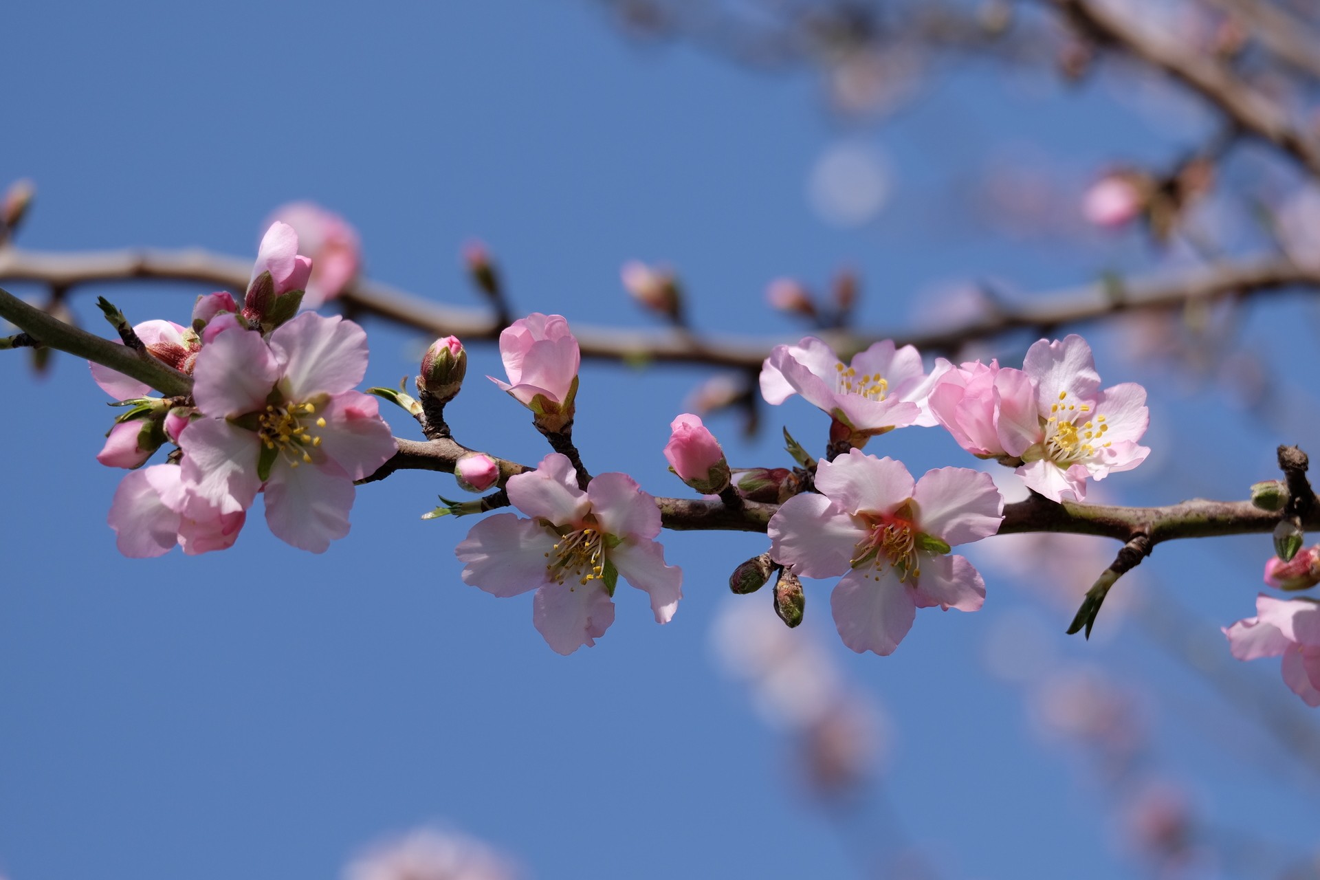
<svg viewBox="0 0 1320 880"><path fill-rule="evenodd" d="M193 367L193 400L220 418L265 409L280 367L261 334L227 330L202 347Z"/></svg>

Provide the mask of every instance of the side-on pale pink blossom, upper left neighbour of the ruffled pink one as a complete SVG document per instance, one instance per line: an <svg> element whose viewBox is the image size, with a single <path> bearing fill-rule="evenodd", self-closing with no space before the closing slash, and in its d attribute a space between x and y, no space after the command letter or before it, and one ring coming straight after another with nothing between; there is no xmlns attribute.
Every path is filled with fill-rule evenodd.
<svg viewBox="0 0 1320 880"><path fill-rule="evenodd" d="M776 405L801 394L854 437L866 438L907 425L935 425L927 396L950 367L940 358L927 375L916 348L895 348L890 339L845 365L826 343L807 336L796 346L775 347L760 369L760 393Z"/></svg>

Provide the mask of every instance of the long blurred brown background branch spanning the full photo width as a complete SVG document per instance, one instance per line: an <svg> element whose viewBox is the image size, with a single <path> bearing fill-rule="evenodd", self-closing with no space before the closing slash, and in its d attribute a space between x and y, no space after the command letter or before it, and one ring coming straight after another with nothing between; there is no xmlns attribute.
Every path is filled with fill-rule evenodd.
<svg viewBox="0 0 1320 880"><path fill-rule="evenodd" d="M242 290L251 261L201 249L107 251L42 253L0 248L0 282L36 281L57 288L132 280L182 281ZM871 330L822 334L841 352L861 351L876 339L915 344L928 351L952 352L975 339L1010 331L1049 332L1129 311L1166 311L1189 302L1210 302L1230 296L1255 296L1295 286L1320 289L1320 270L1278 256L1242 259L1179 274L1041 293L1020 305L999 305L994 313L936 330ZM388 285L359 280L341 301L359 314L371 314L434 336L454 334L465 343L499 338L503 327L488 313L442 305ZM585 358L702 363L756 369L776 344L792 338L717 336L693 332L644 331L574 323Z"/></svg>

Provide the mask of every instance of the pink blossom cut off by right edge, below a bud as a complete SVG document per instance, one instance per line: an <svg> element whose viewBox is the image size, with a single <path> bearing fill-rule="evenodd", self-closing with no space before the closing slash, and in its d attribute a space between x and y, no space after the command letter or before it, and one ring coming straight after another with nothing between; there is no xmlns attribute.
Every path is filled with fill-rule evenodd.
<svg viewBox="0 0 1320 880"><path fill-rule="evenodd" d="M1283 657L1283 681L1307 706L1320 706L1320 604L1255 598L1255 616L1224 629L1238 660Z"/></svg>

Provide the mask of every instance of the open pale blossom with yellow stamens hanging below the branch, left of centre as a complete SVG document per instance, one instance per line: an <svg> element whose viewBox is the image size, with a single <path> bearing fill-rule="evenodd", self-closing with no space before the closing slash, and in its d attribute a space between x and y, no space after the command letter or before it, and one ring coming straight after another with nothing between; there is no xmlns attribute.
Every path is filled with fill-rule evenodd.
<svg viewBox="0 0 1320 880"><path fill-rule="evenodd" d="M668 623L682 598L682 570L665 565L660 509L627 474L601 474L578 488L577 471L558 453L506 484L515 508L473 526L455 553L463 582L495 596L536 590L532 621L561 654L594 645L614 623L614 587L623 575L651 594L656 623Z"/></svg>

